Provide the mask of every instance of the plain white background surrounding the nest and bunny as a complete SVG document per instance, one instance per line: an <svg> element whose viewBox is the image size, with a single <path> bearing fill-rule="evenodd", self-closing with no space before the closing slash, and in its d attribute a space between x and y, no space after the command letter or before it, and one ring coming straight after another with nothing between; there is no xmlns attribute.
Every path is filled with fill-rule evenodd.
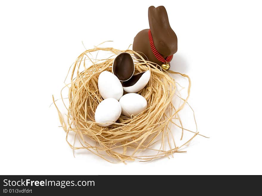
<svg viewBox="0 0 262 196"><path fill-rule="evenodd" d="M171 69L191 77L189 103L210 138L146 163L74 158L52 94L82 41L127 49L149 27L150 5L167 9L178 37ZM1 1L0 174L262 174L261 18L259 1Z"/></svg>

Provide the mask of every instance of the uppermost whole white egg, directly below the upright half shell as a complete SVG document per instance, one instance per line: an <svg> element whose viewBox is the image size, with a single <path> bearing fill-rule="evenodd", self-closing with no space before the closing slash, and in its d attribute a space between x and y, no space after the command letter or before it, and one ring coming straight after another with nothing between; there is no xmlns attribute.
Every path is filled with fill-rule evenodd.
<svg viewBox="0 0 262 196"><path fill-rule="evenodd" d="M98 89L104 98L114 98L117 101L123 95L123 87L119 79L111 72L103 71L98 77Z"/></svg>

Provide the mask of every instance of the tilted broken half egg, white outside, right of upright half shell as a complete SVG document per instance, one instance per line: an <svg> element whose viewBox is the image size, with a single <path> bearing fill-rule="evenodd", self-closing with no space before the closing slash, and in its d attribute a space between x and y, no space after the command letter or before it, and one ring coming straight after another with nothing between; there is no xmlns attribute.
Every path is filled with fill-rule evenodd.
<svg viewBox="0 0 262 196"><path fill-rule="evenodd" d="M142 90L150 79L150 71L133 75L128 81L122 83L125 92L138 92Z"/></svg>

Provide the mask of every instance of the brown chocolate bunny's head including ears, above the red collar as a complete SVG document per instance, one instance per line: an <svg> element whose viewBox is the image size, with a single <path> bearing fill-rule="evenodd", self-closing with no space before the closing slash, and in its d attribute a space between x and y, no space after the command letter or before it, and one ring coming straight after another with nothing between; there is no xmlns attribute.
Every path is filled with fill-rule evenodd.
<svg viewBox="0 0 262 196"><path fill-rule="evenodd" d="M164 6L148 8L149 27L157 51L163 56L177 52L177 35L171 29Z"/></svg>

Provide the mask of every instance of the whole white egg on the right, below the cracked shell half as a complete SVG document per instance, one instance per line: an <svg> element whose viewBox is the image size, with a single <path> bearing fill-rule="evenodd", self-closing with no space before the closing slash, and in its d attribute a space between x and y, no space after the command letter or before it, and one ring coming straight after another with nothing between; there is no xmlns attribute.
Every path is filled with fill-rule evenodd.
<svg viewBox="0 0 262 196"><path fill-rule="evenodd" d="M146 99L137 93L127 93L120 98L119 103L125 116L136 116L147 108Z"/></svg>

